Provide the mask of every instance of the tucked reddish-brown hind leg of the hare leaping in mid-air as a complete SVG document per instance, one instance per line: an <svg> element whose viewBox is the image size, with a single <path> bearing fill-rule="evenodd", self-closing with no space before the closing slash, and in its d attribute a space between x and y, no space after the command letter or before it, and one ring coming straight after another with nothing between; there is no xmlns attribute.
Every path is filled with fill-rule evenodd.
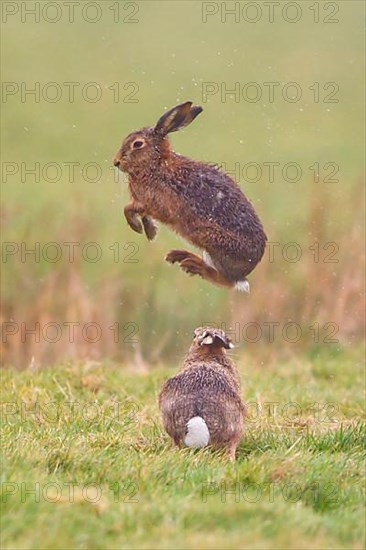
<svg viewBox="0 0 366 550"><path fill-rule="evenodd" d="M206 256L209 259L209 256ZM165 257L171 264L179 263L180 267L189 275L199 275L202 279L213 284L232 288L234 284L228 281L217 269L202 258L187 250L171 250Z"/></svg>

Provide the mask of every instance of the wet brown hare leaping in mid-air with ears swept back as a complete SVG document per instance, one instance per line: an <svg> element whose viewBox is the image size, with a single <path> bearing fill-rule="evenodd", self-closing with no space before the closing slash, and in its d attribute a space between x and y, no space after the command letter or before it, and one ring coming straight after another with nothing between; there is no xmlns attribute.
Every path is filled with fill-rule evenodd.
<svg viewBox="0 0 366 550"><path fill-rule="evenodd" d="M173 107L154 128L142 128L124 140L113 163L129 175L132 202L127 223L149 240L153 219L169 225L203 251L166 256L191 275L249 292L246 276L263 256L266 235L253 206L240 187L217 167L174 153L167 135L184 128L202 112L191 101Z"/></svg>

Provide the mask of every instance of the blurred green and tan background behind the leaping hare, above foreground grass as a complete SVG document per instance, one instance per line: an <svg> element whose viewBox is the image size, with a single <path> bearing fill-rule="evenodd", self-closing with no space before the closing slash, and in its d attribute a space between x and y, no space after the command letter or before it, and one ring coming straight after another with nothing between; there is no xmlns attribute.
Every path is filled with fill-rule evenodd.
<svg viewBox="0 0 366 550"><path fill-rule="evenodd" d="M314 341L309 328L313 323L319 323L321 330L326 323L335 323L340 346L354 345L362 337L362 2L330 3L339 8L333 16L339 20L336 23L324 22L332 17L324 2L315 3L319 23L314 22L310 2L299 3L302 15L297 23L282 16L284 2L273 23L262 2L256 3L262 10L256 23L248 23L242 15L239 22L229 15L223 22L221 3L215 2L209 3L209 9L218 11L207 22L202 15L207 4L205 8L201 2L99 2L101 17L95 23L81 16L85 2L75 8L73 23L62 2L62 17L55 23L42 15L38 23L29 15L23 22L21 3L11 4L20 11L6 22L3 17L2 24L2 238L28 248L39 242L41 250L46 243L57 242L63 254L55 263L42 257L37 262L20 252L6 262L3 257L3 321L19 328L5 342L5 363L24 368L68 356L153 364L183 353L193 329L203 322L225 327L258 322L262 328L267 321L296 322L303 331L298 345L307 350L325 340ZM228 9L233 4L227 3ZM114 21L117 8L119 22ZM56 12L49 10L46 15L52 19ZM92 8L87 12L89 18L95 13ZM19 90L22 83L29 89L39 83L39 102L32 95L22 101L20 91L7 95L4 82ZM42 97L50 82L62 90L59 101ZM80 83L73 102L65 82ZM90 82L100 88L96 102L85 100L81 93ZM263 95L255 103L243 97L235 101L229 95L223 101L220 93L204 98L207 82L227 89L235 83L242 87L256 82ZM268 100L265 82L280 83L273 102ZM298 102L283 99L282 85L288 82L301 87ZM319 102L310 89L316 82ZM337 103L324 102L332 91L323 89L329 82L339 86ZM93 91L91 87L90 96ZM51 88L48 92L53 94ZM250 276L249 296L228 293L168 266L164 255L179 247L180 239L160 227L156 241L148 243L127 227L122 214L128 188L126 178L113 169L112 156L129 132L154 124L164 109L188 99L203 105L204 112L192 126L172 136L174 149L195 159L224 163L228 170L238 162L261 165L259 181L241 178L240 185L255 204L269 241L281 243L280 249L295 241L302 250L295 263L277 253L270 262L266 255ZM22 181L24 168L37 162L41 169L58 163L59 180L45 181L41 176L35 181L27 175ZM65 166L70 162L79 163L74 181ZM88 178L81 173L90 162L101 167L94 182L87 181L94 178L92 169ZM264 162L280 163L275 181L269 181ZM281 168L288 162L301 166L299 181L282 177ZM316 162L320 167L336 163L339 181L324 181L329 169L321 169L319 181L314 181L309 167ZM9 165L4 163L16 163L18 172L6 176ZM53 177L52 169L49 175L48 179ZM73 263L64 242L80 243ZM95 263L80 254L89 242L97 242L102 250ZM119 261L114 261L109 248L116 242ZM320 245L318 263L309 250L315 242ZM328 242L337 245L337 263L324 261L332 250L323 249ZM133 258L138 262L126 261L135 250L127 243L136 243ZM70 342L64 328L55 343L42 336L39 342L32 336L22 340L21 323L29 328L37 322L41 328L49 322L61 327L65 322L80 326L94 322L102 335L88 343L78 328ZM117 326L114 323L118 338L108 328ZM134 342L128 337L131 332ZM267 344L266 334L263 328L260 341L248 342L247 348ZM295 349L281 337L267 347L270 354Z"/></svg>

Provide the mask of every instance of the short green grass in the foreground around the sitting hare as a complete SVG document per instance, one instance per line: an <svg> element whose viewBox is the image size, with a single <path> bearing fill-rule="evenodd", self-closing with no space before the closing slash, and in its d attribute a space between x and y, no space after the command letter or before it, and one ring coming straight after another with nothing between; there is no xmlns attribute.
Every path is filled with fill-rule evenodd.
<svg viewBox="0 0 366 550"><path fill-rule="evenodd" d="M157 393L174 366L4 372L2 547L362 548L358 353L238 362L249 416L235 465L170 446Z"/></svg>

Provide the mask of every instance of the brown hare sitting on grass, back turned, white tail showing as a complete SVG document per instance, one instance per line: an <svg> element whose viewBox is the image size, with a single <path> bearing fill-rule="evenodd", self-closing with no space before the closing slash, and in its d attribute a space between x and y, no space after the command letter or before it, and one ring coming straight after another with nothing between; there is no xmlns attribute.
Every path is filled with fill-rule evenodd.
<svg viewBox="0 0 366 550"><path fill-rule="evenodd" d="M242 433L245 407L240 381L222 330L197 328L181 371L159 395L166 431L178 446L226 449L231 460Z"/></svg>

